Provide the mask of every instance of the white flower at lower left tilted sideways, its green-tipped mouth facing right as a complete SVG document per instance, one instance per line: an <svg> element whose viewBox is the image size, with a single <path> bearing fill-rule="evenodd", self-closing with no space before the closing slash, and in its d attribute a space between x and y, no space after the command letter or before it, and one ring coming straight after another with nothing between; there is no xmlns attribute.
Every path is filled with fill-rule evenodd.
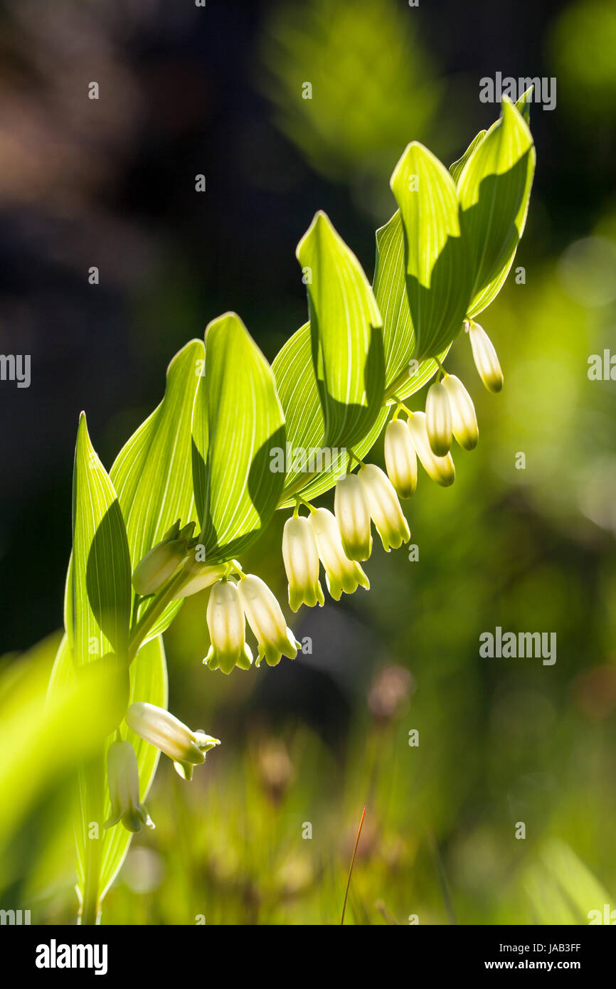
<svg viewBox="0 0 616 989"><path fill-rule="evenodd" d="M135 735L173 760L176 771L184 779L190 779L193 766L205 763L206 753L220 745L219 739L204 732L192 732L170 711L155 704L140 701L131 704L127 724Z"/></svg>

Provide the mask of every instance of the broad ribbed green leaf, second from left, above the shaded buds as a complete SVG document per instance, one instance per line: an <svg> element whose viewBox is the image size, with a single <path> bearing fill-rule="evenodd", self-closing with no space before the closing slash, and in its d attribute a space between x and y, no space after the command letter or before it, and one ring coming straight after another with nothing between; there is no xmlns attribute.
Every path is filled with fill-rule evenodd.
<svg viewBox="0 0 616 989"><path fill-rule="evenodd" d="M111 469L127 523L133 569L176 519L180 518L184 525L197 521L191 422L203 370L203 341L191 340L167 368L162 402L133 433ZM182 603L178 600L169 605L148 638L155 638L167 628Z"/></svg>

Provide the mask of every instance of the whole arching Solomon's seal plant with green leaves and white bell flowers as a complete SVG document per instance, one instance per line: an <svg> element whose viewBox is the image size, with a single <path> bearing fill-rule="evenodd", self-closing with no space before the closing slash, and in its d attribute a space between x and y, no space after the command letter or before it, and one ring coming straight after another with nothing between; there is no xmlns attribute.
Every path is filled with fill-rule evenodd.
<svg viewBox="0 0 616 989"><path fill-rule="evenodd" d="M219 744L167 710L162 634L184 598L210 587L209 670L293 659L298 643L280 603L241 566L274 512L290 513L282 555L291 611L323 603L321 565L337 600L369 586L361 565L373 523L386 550L408 540L399 498L415 489L417 461L446 487L453 439L476 446L473 401L445 364L461 336L484 386L502 387L476 317L500 290L526 220L529 97L504 101L449 169L408 144L391 181L397 212L377 231L372 285L316 213L297 249L308 321L271 366L238 315L214 319L205 341L172 359L162 402L109 473L82 413L65 635L49 684L57 696L96 674L103 712L105 736L78 779L81 923L96 923L132 834L152 826L143 801L160 753L190 779ZM411 410L409 397L433 378L425 411ZM384 430L387 473L366 461ZM314 504L334 486L333 512Z"/></svg>

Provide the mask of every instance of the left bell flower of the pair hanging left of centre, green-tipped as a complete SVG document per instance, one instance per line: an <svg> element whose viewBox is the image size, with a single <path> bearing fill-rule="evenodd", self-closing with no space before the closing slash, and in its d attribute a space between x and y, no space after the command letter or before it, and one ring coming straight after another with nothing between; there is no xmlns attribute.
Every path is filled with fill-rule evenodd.
<svg viewBox="0 0 616 989"><path fill-rule="evenodd" d="M233 667L249 670L252 653L246 645L244 613L237 584L219 581L208 601L208 629L212 643L204 663L211 670L230 674Z"/></svg>

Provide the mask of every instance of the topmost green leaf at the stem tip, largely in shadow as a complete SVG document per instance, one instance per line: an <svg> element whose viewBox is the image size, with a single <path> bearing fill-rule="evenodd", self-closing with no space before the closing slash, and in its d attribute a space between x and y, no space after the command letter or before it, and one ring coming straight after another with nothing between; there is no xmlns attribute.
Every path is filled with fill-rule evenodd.
<svg viewBox="0 0 616 989"><path fill-rule="evenodd" d="M458 183L463 236L473 264L468 315L494 299L524 229L535 168L528 125L508 100L502 116L468 159Z"/></svg>

